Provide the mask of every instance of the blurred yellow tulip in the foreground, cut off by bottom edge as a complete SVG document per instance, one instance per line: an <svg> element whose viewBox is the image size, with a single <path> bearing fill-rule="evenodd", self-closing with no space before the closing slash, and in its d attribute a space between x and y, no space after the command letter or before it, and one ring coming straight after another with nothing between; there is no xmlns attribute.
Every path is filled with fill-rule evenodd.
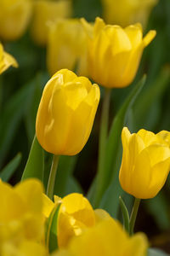
<svg viewBox="0 0 170 256"><path fill-rule="evenodd" d="M53 256L145 256L147 247L144 234L129 237L121 224L106 218L74 237L67 250L60 250Z"/></svg>

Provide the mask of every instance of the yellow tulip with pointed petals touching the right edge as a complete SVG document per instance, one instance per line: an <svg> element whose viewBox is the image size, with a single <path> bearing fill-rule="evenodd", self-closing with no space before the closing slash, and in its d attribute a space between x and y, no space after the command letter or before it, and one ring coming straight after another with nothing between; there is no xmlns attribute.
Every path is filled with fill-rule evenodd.
<svg viewBox="0 0 170 256"><path fill-rule="evenodd" d="M161 134L162 135L162 134ZM119 173L122 189L140 199L156 196L170 170L170 148L160 133L122 130L122 166Z"/></svg>

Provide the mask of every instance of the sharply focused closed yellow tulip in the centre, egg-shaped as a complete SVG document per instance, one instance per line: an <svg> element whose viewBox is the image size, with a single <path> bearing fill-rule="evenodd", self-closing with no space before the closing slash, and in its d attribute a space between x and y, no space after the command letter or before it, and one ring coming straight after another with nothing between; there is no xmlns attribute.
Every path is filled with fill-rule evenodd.
<svg viewBox="0 0 170 256"><path fill-rule="evenodd" d="M88 141L99 86L62 69L46 84L37 111L37 140L52 154L78 154Z"/></svg>

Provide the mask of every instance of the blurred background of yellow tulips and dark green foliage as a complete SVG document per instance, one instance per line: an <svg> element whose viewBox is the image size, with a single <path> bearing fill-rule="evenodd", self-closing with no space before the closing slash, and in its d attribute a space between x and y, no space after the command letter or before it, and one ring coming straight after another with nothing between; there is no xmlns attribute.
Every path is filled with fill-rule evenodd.
<svg viewBox="0 0 170 256"><path fill-rule="evenodd" d="M0 0L0 40L4 49L19 63L18 68L10 67L0 76L0 170L3 172L12 160L14 170L7 178L10 183L20 181L26 166L35 134L38 104L48 79L63 67L78 74L86 74L86 42L79 20L72 20L73 18L84 17L93 22L99 16L107 23L122 26L142 22L144 34L150 29L156 30L156 38L144 49L133 84L125 89L112 90L111 119L121 108L133 85L146 73L146 84L128 114L127 126L130 131L141 128L154 132L170 131L170 0L116 2ZM129 7L128 2L136 3ZM137 2L143 3L139 5ZM98 158L100 105L85 148L75 157L61 157L59 182L55 185L55 193L59 196L71 192L86 195L94 180ZM45 184L50 160L51 156L46 154ZM130 208L132 198L124 196ZM136 230L144 231L149 236L152 247L160 247L167 253L170 253L169 198L170 177L156 198L142 201L136 225ZM111 201L108 204L102 207L113 217L122 218L120 211L116 216L111 212Z"/></svg>

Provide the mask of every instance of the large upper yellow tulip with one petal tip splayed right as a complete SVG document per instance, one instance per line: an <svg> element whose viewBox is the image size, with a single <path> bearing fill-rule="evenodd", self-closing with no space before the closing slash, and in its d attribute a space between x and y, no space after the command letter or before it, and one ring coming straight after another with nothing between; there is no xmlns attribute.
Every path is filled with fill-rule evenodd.
<svg viewBox="0 0 170 256"><path fill-rule="evenodd" d="M108 88L125 87L132 83L139 67L144 47L155 38L150 31L143 38L140 24L105 25L96 18L94 26L82 19L88 34L88 72L98 84Z"/></svg>

